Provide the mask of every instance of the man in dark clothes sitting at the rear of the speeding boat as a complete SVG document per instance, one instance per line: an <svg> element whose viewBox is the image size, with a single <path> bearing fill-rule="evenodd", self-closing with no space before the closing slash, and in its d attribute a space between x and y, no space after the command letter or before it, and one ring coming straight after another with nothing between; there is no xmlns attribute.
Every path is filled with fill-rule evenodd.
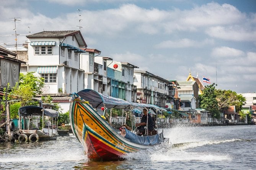
<svg viewBox="0 0 256 170"><path fill-rule="evenodd" d="M153 119L151 115L148 114L148 110L144 108L141 122L135 124L135 126L137 127L137 133L136 133L137 135L141 136L145 134L147 122L148 122L148 130L153 130L154 129Z"/></svg>

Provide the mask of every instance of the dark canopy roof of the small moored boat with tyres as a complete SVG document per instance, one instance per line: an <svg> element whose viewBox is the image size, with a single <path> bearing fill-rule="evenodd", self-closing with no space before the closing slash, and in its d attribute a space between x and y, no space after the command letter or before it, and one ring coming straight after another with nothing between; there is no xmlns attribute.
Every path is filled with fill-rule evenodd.
<svg viewBox="0 0 256 170"><path fill-rule="evenodd" d="M44 109L39 106L24 106L19 108L19 112L21 115L42 115L44 111L44 115L51 116L51 117L58 117L58 111L52 109Z"/></svg>

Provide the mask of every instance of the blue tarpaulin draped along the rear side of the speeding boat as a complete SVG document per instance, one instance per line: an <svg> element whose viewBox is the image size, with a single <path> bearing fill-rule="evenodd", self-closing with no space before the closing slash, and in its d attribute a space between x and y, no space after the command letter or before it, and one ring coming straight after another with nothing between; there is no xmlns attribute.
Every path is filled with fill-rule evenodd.
<svg viewBox="0 0 256 170"><path fill-rule="evenodd" d="M153 136L138 136L127 129L125 130L126 130L125 138L130 140L133 143L143 144L143 145L154 145L154 144L160 144L165 141L163 137L163 133L153 135Z"/></svg>

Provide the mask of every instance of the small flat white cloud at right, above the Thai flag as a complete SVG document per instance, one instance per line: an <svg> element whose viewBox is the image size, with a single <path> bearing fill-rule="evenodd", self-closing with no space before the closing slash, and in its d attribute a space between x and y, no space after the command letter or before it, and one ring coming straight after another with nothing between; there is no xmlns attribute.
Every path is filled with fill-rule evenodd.
<svg viewBox="0 0 256 170"><path fill-rule="evenodd" d="M217 47L212 50L212 56L214 57L241 57L245 53L241 50L230 47Z"/></svg>

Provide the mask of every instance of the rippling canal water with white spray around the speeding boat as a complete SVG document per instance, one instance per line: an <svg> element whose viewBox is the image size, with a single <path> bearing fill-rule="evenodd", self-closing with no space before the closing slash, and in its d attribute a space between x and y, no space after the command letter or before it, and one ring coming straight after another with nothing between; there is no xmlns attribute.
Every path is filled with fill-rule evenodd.
<svg viewBox="0 0 256 170"><path fill-rule="evenodd" d="M74 135L38 143L0 143L0 169L253 170L256 125L164 129L167 146L131 153L125 160L92 162Z"/></svg>

